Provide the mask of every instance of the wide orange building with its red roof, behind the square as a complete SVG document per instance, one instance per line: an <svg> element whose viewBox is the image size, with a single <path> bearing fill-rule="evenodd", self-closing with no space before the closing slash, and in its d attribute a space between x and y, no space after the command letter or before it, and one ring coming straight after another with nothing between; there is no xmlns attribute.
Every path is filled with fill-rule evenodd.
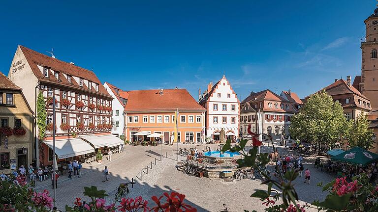
<svg viewBox="0 0 378 212"><path fill-rule="evenodd" d="M130 91L125 107L125 137L130 142L149 141L147 136L135 134L161 133L162 141L169 143L178 118L178 141L201 142L204 140L205 111L185 89Z"/></svg>

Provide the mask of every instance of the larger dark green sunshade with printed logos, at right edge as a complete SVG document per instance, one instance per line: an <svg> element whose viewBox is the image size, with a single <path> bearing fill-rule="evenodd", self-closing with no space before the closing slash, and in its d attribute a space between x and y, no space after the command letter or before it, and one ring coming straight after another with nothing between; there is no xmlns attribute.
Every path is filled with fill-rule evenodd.
<svg viewBox="0 0 378 212"><path fill-rule="evenodd" d="M337 156L332 156L331 160L364 167L377 161L378 155L361 147L354 147Z"/></svg>

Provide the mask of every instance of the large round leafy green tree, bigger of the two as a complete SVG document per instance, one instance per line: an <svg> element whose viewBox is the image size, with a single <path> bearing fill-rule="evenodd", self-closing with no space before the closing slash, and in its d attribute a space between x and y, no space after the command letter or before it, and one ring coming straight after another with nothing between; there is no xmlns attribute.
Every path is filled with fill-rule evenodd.
<svg viewBox="0 0 378 212"><path fill-rule="evenodd" d="M324 89L311 95L299 113L290 118L291 137L317 146L327 144L334 147L347 130L343 107L333 101Z"/></svg>

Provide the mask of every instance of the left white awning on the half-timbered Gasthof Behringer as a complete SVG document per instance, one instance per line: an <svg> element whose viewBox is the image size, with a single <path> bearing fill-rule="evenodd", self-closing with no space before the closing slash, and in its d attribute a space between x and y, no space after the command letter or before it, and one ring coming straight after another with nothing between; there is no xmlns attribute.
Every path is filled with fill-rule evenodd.
<svg viewBox="0 0 378 212"><path fill-rule="evenodd" d="M53 141L44 141L53 149ZM80 138L55 141L55 154L59 159L65 159L95 152L95 149Z"/></svg>

